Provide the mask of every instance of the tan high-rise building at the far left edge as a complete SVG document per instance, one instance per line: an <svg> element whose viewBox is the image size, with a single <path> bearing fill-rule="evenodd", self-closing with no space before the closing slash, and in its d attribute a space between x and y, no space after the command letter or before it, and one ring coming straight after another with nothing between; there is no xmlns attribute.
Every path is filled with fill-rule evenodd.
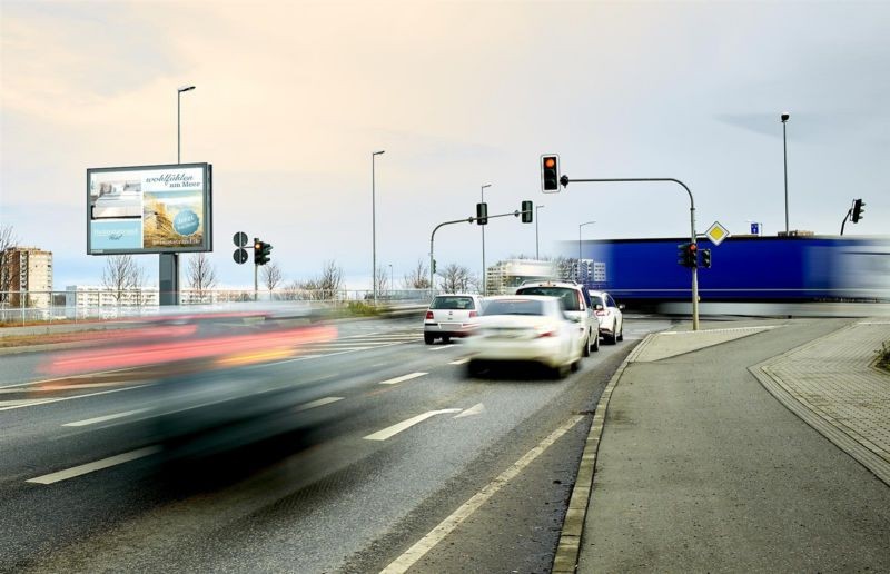
<svg viewBox="0 0 890 574"><path fill-rule="evenodd" d="M0 269L10 307L49 308L52 305L52 251L8 247Z"/></svg>

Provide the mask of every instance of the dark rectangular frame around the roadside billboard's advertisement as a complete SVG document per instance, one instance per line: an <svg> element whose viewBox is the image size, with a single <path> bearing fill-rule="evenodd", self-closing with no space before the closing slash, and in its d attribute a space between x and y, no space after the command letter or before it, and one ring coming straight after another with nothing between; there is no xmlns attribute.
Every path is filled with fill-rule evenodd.
<svg viewBox="0 0 890 574"><path fill-rule="evenodd" d="M151 170L176 170L176 169L194 169L200 168L204 176L204 189L201 190L204 200L204 241L194 247L174 246L174 247L151 247L138 249L93 249L92 248L92 234L90 217L90 179L95 174L110 172L110 171L151 171ZM194 164L158 164L150 166L121 166L121 167L103 167L103 168L87 168L87 205L86 205L86 230L87 230L87 255L154 255L154 254L179 254L179 253L206 253L214 250L214 217L212 217L212 197L214 197L214 166L212 164L201 161Z"/></svg>

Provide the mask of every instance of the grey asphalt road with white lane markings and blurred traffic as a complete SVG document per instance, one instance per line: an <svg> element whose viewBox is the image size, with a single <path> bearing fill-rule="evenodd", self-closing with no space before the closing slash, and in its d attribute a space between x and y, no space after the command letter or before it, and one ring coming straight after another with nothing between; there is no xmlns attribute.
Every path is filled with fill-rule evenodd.
<svg viewBox="0 0 890 574"><path fill-rule="evenodd" d="M624 343L552 380L469 379L462 346L424 345L416 320L340 324L308 355L226 374L298 382L294 432L197 461L157 442L176 410L157 373L47 380L52 354L3 356L0 570L379 571L484 491L413 567L545 571L600 393L636 340L670 326L631 319ZM174 400L191 406L219 377L182 375L191 395Z"/></svg>

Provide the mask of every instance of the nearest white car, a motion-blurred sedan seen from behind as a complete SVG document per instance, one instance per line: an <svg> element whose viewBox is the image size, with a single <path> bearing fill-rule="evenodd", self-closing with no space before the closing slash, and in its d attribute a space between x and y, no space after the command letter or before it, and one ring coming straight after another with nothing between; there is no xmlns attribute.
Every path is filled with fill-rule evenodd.
<svg viewBox="0 0 890 574"><path fill-rule="evenodd" d="M577 324L567 317L555 297L505 295L486 299L476 329L467 337L472 358L469 376L486 364L533 362L564 377L583 355Z"/></svg>

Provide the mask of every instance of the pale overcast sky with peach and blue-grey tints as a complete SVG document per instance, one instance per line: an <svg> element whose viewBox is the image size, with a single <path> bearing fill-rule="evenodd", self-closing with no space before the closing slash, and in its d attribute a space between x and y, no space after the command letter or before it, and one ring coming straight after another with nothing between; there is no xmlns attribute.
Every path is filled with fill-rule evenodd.
<svg viewBox="0 0 890 574"><path fill-rule="evenodd" d="M396 283L433 228L543 204L557 240L681 237L685 192L666 184L571 185L543 195L540 156L573 178L672 177L700 231L784 229L788 111L792 229L890 226L890 2L0 2L0 217L51 250L56 288L98 284L86 255L86 169L214 165L214 254L249 285L231 235L274 245L290 279L324 261ZM535 226L486 228L488 263L534 255ZM157 256L139 261L157 280ZM184 256L184 268L185 259ZM436 235L436 259L479 273L481 231ZM184 274L185 275L185 274ZM185 286L186 279L182 277Z"/></svg>

